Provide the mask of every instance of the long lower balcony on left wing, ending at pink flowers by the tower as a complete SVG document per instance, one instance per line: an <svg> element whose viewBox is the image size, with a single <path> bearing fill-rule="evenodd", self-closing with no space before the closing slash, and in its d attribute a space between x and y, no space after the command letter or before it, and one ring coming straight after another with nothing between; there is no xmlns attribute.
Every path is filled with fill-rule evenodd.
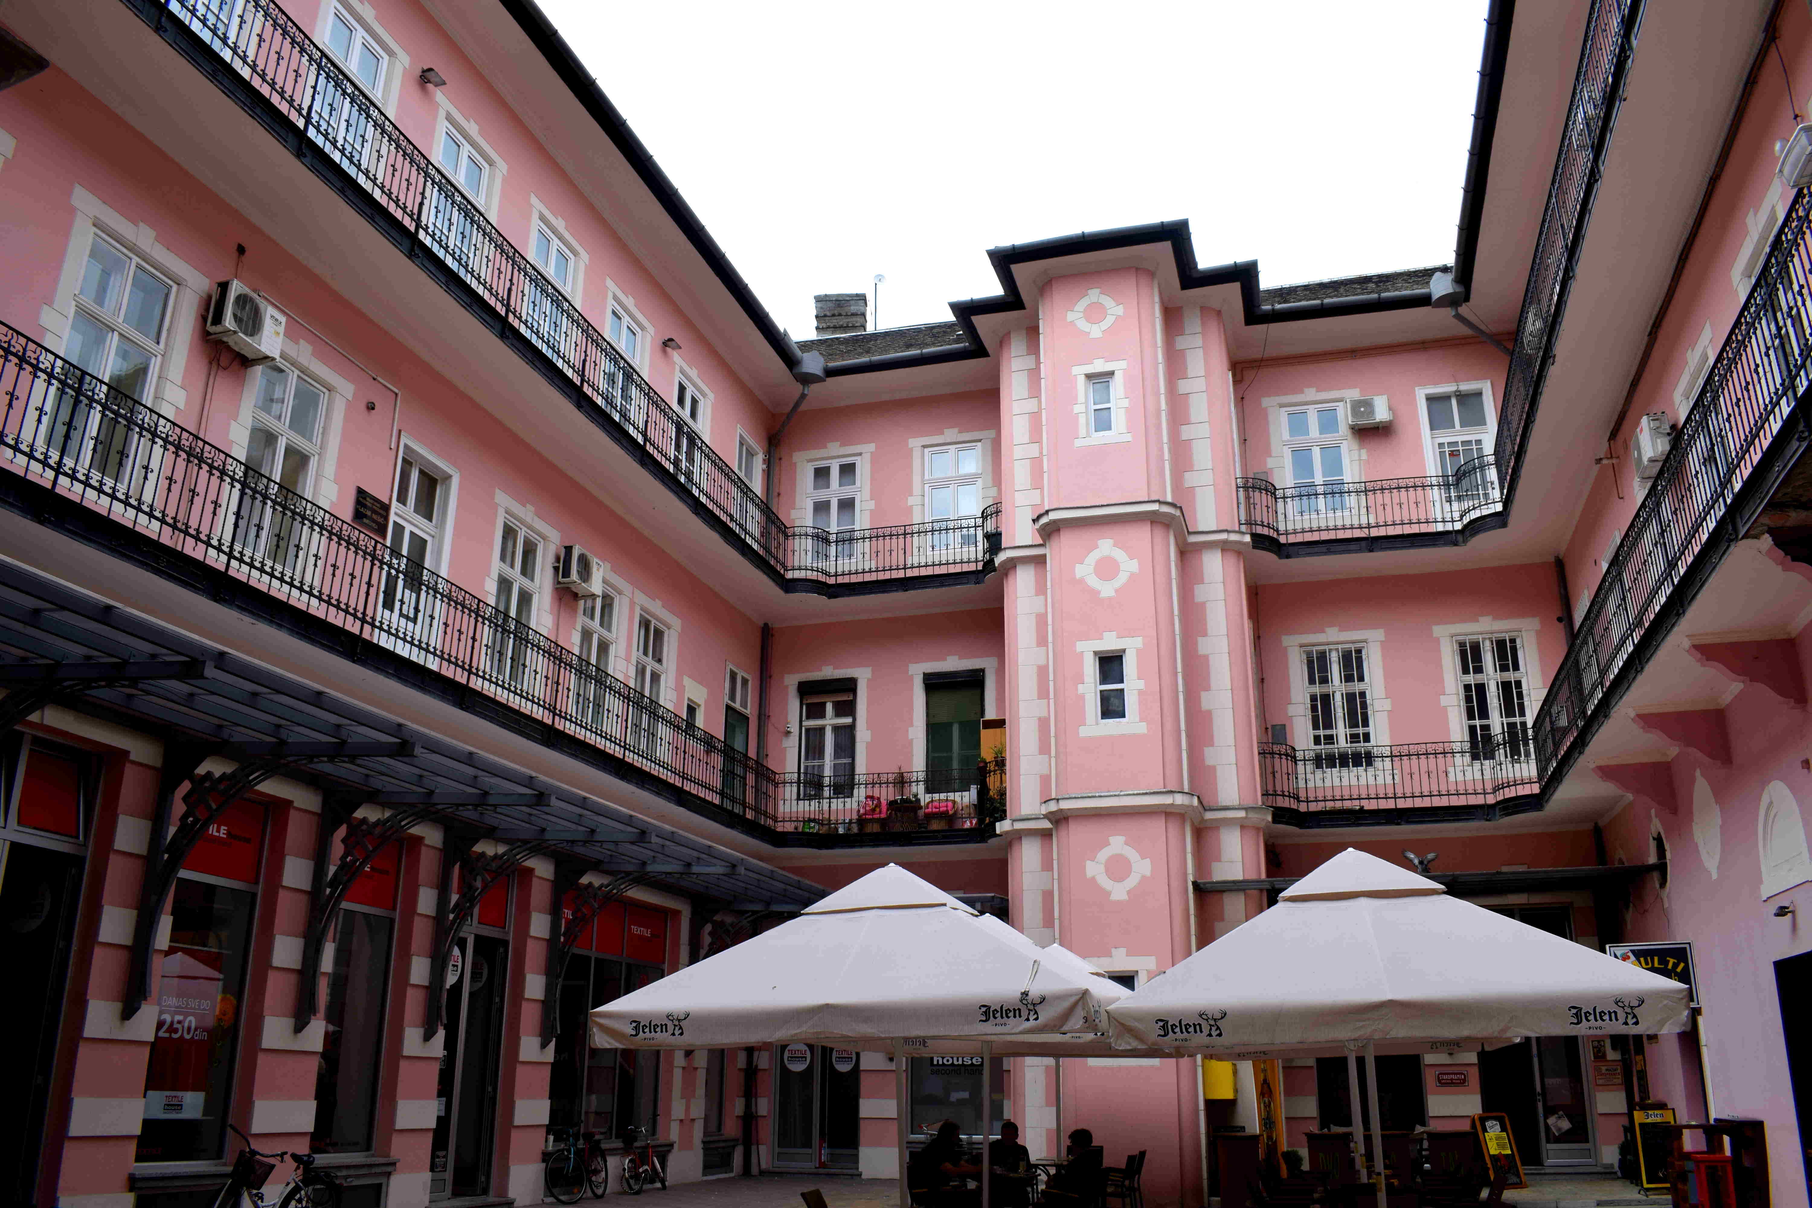
<svg viewBox="0 0 1812 1208"><path fill-rule="evenodd" d="M4 324L0 400L0 500L190 590L237 594L261 619L390 666L397 679L616 775L663 786L674 801L766 842L830 846L873 833L863 811L882 784L924 802L915 815L890 808L884 842L993 835L998 770L810 784L776 773ZM971 556L960 531L944 525L913 525L888 540L910 556ZM843 561L839 554L819 570L859 572Z"/></svg>

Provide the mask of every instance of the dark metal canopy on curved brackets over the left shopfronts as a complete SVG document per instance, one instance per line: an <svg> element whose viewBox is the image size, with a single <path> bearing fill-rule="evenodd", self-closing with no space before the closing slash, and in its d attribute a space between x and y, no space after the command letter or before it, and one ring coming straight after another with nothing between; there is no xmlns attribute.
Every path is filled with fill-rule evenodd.
<svg viewBox="0 0 1812 1208"><path fill-rule="evenodd" d="M31 692L33 712L54 701L149 726L265 775L313 781L337 808L433 817L496 840L516 862L560 853L727 909L790 913L823 896L806 880L0 563L0 683L7 679ZM11 724L24 719L11 712ZM317 886L317 904L326 891Z"/></svg>

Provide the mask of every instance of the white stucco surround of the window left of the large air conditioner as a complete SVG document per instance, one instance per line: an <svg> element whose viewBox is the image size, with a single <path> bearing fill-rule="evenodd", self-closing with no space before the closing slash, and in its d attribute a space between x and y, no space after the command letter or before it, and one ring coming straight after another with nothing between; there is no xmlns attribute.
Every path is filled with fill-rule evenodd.
<svg viewBox="0 0 1812 1208"><path fill-rule="evenodd" d="M188 402L188 391L183 389L183 368L188 364L188 350L196 339L201 301L212 295L214 283L158 243L158 232L150 226L127 219L82 185L71 190L69 205L76 214L69 225L69 243L63 246L63 268L56 277L56 299L38 308L40 339L51 351L63 351L63 340L69 339L69 321L76 313L76 288L82 284L82 270L89 261L89 244L96 232L107 235L170 283L170 313L165 319L158 377L150 397L141 400L169 418Z"/></svg>

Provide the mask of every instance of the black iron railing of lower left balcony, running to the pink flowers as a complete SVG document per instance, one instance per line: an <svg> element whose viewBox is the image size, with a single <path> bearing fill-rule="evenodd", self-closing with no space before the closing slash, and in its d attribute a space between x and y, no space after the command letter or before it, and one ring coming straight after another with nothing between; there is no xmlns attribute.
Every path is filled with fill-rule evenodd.
<svg viewBox="0 0 1812 1208"><path fill-rule="evenodd" d="M863 817L866 788L853 804L839 804L830 791L841 784L819 784L808 797L799 777L779 775L727 746L574 650L4 324L0 402L0 471L78 500L156 540L159 549L250 583L757 828L777 833L801 829L806 817ZM948 532L937 532L931 552L942 556L939 543ZM920 532L913 540L930 538ZM997 781L975 772L910 775L919 777L910 791L926 797L913 829L942 829L939 819L951 819L971 833L991 833ZM868 784L873 777L857 781ZM933 795L957 804L933 810ZM808 799L812 804L801 810Z"/></svg>

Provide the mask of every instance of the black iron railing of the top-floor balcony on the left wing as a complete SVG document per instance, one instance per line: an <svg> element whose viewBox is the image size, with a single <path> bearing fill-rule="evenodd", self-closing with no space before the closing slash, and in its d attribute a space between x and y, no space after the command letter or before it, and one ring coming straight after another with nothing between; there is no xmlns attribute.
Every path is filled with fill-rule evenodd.
<svg viewBox="0 0 1812 1208"><path fill-rule="evenodd" d="M993 569L998 507L980 516L824 534L792 529L641 377L616 342L580 313L486 217L484 210L384 114L277 0L125 0L147 22L192 36L228 69L214 80L266 127L284 125L299 150L339 165L558 373L573 400L690 505L716 518L788 590L844 594ZM529 353L533 357L533 353Z"/></svg>

